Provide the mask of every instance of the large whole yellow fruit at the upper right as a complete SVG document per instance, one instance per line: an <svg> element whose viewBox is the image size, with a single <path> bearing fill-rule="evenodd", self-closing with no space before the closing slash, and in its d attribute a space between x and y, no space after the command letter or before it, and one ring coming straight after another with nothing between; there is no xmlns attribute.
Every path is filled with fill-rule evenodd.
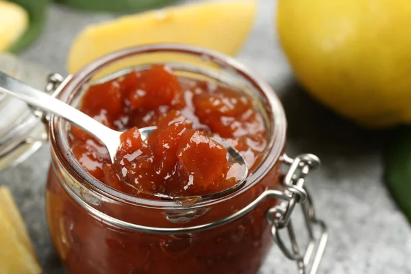
<svg viewBox="0 0 411 274"><path fill-rule="evenodd" d="M277 27L313 97L366 127L411 123L411 1L279 0Z"/></svg>

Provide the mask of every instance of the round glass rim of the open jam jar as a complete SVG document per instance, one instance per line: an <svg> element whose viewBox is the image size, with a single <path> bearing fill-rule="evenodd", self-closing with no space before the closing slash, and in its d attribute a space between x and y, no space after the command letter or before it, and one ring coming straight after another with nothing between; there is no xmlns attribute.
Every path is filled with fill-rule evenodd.
<svg viewBox="0 0 411 274"><path fill-rule="evenodd" d="M73 95L78 90L81 90L84 84L86 84L95 75L95 72L124 58L145 53L186 53L188 55L201 57L205 60L224 66L225 68L235 71L241 77L244 77L254 88L260 90L260 92L264 95L264 100L266 100L266 103L271 106L271 113L269 116L272 119L273 124L271 125L271 138L267 145L268 153L258 166L258 169L256 169L256 171L247 179L249 183L247 183L246 186L225 196L216 197L215 199L207 199L206 201L199 201L198 203L195 203L192 208L197 208L199 206L210 206L214 203L226 201L227 199L234 198L242 192L247 191L252 186L258 184L260 179L273 168L282 155L286 141L286 116L282 103L279 101L277 95L275 95L275 92L271 86L269 86L269 84L266 83L260 76L256 75L256 73L253 73L253 71L247 69L240 62L223 53L200 47L177 44L155 44L122 49L120 51L115 51L113 53L109 53L108 55L104 55L103 57L84 66L82 69L77 71L77 73L69 75L68 79L66 79L64 84L62 84L62 87L58 92L58 99L66 102L70 101ZM67 151L70 151L70 147L66 134L64 134L64 123L67 122L57 116L51 116L49 122L51 147L60 164L62 164L64 169L69 171L69 173L73 175L78 182L87 182L88 186L85 187L91 187L92 190L99 192L100 195L104 195L106 197L108 196L123 203L150 208L181 208L181 203L176 201L158 201L127 195L123 192L115 190L114 188L110 188L109 186L103 184L103 182L95 179L95 177L92 177L92 175L83 169L79 162L77 162L72 153L67 153Z"/></svg>

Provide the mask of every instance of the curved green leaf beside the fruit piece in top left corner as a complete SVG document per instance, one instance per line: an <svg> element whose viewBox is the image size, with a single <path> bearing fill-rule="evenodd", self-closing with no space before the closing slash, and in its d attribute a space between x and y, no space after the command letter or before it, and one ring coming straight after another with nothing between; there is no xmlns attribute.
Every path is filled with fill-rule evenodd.
<svg viewBox="0 0 411 274"><path fill-rule="evenodd" d="M8 49L8 51L12 53L17 53L25 49L25 47L29 46L36 40L38 35L41 33L43 26L45 25L46 20L46 10L47 10L47 3L49 0L7 0L10 2L14 2L21 7L25 8L29 13L29 27L18 39L17 42Z"/></svg>

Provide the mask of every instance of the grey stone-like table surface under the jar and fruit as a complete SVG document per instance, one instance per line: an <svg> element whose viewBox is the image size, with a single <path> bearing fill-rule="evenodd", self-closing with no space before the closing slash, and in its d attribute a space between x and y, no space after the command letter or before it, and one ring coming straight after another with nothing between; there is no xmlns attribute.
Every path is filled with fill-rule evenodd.
<svg viewBox="0 0 411 274"><path fill-rule="evenodd" d="M287 153L310 152L323 162L308 182L318 215L329 227L319 273L411 273L411 229L384 186L382 134L340 119L296 84L275 33L275 5L260 0L256 24L238 60L260 73L282 100L288 119ZM45 32L21 56L65 74L76 34L90 23L113 17L53 5ZM65 271L45 219L49 160L45 145L29 160L0 173L0 184L12 189L44 273L57 274ZM269 273L297 271L274 247L260 271Z"/></svg>

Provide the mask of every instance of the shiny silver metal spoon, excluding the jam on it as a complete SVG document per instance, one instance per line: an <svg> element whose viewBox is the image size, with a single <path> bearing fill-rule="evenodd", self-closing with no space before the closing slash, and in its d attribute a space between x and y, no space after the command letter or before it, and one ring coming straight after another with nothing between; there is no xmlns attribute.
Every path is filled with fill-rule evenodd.
<svg viewBox="0 0 411 274"><path fill-rule="evenodd" d="M121 134L123 134L123 132L118 132L114 129L110 129L110 127L106 127L95 119L92 119L87 114L84 114L83 112L77 110L77 108L73 108L71 105L64 103L63 101L60 101L59 99L56 99L50 95L47 95L45 92L37 90L36 88L20 82L18 81L18 79L15 79L14 77L11 77L10 75L2 72L0 72L0 92L5 92L12 97L26 101L27 103L29 103L29 105L33 105L40 110L55 114L60 118L73 123L77 127L83 129L85 132L92 134L92 136L95 136L103 143L103 145L105 145L110 155L111 161L114 162L116 152L121 145L120 136ZM140 131L142 140L146 140L147 137L156 128L157 127L143 127L141 129L138 129ZM240 181L232 188L223 190L222 192L213 193L211 195L222 195L225 192L238 188L245 182L248 174L247 164L242 155L236 149L234 149L234 147L224 142L223 139L219 138L219 140L217 141L221 142L221 144L227 148L229 158L232 162L244 165L244 173L242 174ZM186 198L171 197L158 193L149 194L168 199ZM210 197L211 195L204 195L201 197Z"/></svg>

